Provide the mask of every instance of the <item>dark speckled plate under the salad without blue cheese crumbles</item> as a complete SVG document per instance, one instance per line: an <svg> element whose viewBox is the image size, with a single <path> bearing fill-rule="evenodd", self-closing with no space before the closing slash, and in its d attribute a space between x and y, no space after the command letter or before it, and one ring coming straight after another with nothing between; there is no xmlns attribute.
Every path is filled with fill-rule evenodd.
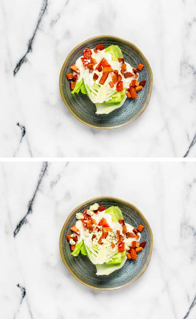
<svg viewBox="0 0 196 319"><path fill-rule="evenodd" d="M66 73L71 72L71 65L82 56L83 50L95 48L98 43L103 44L105 48L112 44L118 45L122 50L125 63L128 62L132 66L143 63L145 67L139 72L139 81L147 81L136 100L126 99L121 108L109 114L99 115L95 114L96 106L87 95L71 94L70 81L66 79ZM82 42L70 52L61 69L59 86L65 105L80 122L97 129L113 129L134 121L147 107L152 91L152 70L145 56L134 44L111 35L100 35Z"/></svg>

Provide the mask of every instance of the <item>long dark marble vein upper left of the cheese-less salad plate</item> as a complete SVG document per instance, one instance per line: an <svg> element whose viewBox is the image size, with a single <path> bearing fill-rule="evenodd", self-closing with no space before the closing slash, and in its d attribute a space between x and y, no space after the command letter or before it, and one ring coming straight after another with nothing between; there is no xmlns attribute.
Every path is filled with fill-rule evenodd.
<svg viewBox="0 0 196 319"><path fill-rule="evenodd" d="M22 65L24 62L27 61L27 58L26 58L27 54L32 51L33 40L34 40L34 38L35 38L37 29L38 29L39 24L40 24L40 22L41 22L41 20L42 20L42 17L43 17L43 15L44 15L45 11L46 11L47 5L48 5L48 0L43 0L42 8L41 8L41 11L40 11L40 13L39 13L39 18L38 18L37 26L36 26L36 28L35 28L35 31L34 31L34 33L33 33L32 38L31 38L31 39L29 40L29 42L28 42L28 48L27 48L27 51L26 51L25 55L20 59L20 61L17 63L17 65L16 65L16 67L15 67L15 69L14 69L14 71L13 71L14 76L15 76L15 75L17 74L17 72L20 70L21 65Z"/></svg>

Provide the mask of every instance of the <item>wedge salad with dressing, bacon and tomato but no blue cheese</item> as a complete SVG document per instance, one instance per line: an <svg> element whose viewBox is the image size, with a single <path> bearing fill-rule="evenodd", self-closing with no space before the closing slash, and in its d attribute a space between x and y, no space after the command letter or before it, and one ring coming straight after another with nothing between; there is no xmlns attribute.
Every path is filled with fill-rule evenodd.
<svg viewBox="0 0 196 319"><path fill-rule="evenodd" d="M138 71L143 67L142 63L137 68L125 63L118 45L105 48L98 44L84 49L83 56L71 65L73 73L67 73L66 78L71 80L72 94L87 94L96 105L96 114L109 114L120 108L126 98L137 98L146 83L138 80Z"/></svg>

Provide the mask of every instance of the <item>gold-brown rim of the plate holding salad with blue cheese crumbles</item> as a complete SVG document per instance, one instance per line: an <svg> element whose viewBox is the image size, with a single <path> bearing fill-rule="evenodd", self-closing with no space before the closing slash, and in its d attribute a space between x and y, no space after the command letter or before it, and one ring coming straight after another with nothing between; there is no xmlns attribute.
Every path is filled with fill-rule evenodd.
<svg viewBox="0 0 196 319"><path fill-rule="evenodd" d="M95 202L96 202L96 201L100 201L100 200L102 200L102 199L118 200L118 201L120 201L120 202L122 202L122 203L124 203L124 204L128 204L128 205L132 206L132 208L134 208L134 209L138 212L139 216L145 221L145 223L146 223L146 225L147 225L147 227L148 227L148 229L149 229L150 239L151 239L149 256L148 256L147 262L146 262L146 264L145 264L145 267L142 269L142 271L138 274L137 277L135 277L133 280L129 281L129 282L126 283L125 285L118 286L118 287L112 287L112 288L99 288L99 287L96 287L96 286L93 286L93 285L89 285L89 284L85 283L85 281L79 279L79 278L73 273L73 271L71 270L71 268L70 268L70 266L68 265L66 259L64 258L64 254L63 254L63 244L62 244L62 243L63 243L63 233L64 233L64 229L65 229L65 227L66 227L66 225L67 225L68 220L70 219L70 217L71 217L73 214L75 214L76 211L78 211L78 209L79 209L81 206L83 206L83 205L85 205L85 204L88 204L88 203L90 203L91 201L95 201ZM125 286L128 286L128 285L132 284L134 281L136 281L136 280L145 272L145 270L147 269L147 267L148 267L148 265L149 265L149 263L150 263L151 255L152 255L152 246L153 246L152 230L151 230L151 227L150 227L148 221L145 219L145 217L144 217L144 215L141 213L141 211L139 211L139 209L138 209L136 206L134 206L133 204L131 204L131 203L127 202L127 201L124 201L123 199L120 199L120 198L117 198L117 197L110 197L110 196L95 197L95 198L92 198L92 199L87 200L87 201L84 202L83 204L80 204L78 207L76 207L76 208L69 214L69 216L67 217L67 219L65 220L65 223L64 223L63 228L62 228L62 230L61 230L61 234L60 234L60 238L59 238L59 248L60 248L61 258L62 258L62 260L63 260L65 266L67 267L67 269L71 272L72 276L73 276L75 279L77 279L81 284L83 284L84 286L87 286L87 287L89 287L89 288L96 289L96 290L114 290L114 289L120 289L120 288L123 288L123 287L125 287Z"/></svg>

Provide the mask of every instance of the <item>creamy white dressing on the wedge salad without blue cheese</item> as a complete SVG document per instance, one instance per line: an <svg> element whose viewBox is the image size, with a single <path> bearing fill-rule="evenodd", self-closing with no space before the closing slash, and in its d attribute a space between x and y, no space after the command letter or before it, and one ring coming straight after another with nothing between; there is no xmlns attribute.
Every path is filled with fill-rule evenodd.
<svg viewBox="0 0 196 319"><path fill-rule="evenodd" d="M123 74L121 74L121 72L120 72L122 65L118 61L113 61L112 60L112 55L109 52L105 52L105 49L102 50L102 51L98 51L98 53L95 53L93 51L93 49L91 49L91 51L92 51L91 57L93 59L95 59L97 61L97 63L99 63L104 57L108 61L108 63L111 65L113 70L118 70L118 73L122 77L121 81L123 82L123 87L124 88L129 88L129 84L130 84L131 80L134 79L134 77L125 78L123 76ZM103 88L104 87L108 87L109 86L109 82L112 81L112 76L114 75L114 73L110 72L108 77L107 77L107 79L106 79L106 81L105 81L105 83L104 83L104 85L102 85L102 84L99 83L99 81L100 81L100 78L103 75L103 71L98 72L98 70L95 70L96 67L97 67L97 64L95 64L94 65L94 71L89 73L89 69L88 68L87 69L84 68L84 65L82 63L81 57L84 57L84 56L80 56L78 58L78 60L76 61L76 63L75 63L75 65L80 70L80 73L78 74L76 72L73 72L73 74L77 74L77 76L78 76L78 80L77 81L80 81L83 78L85 85L91 86L91 85L94 85L94 84L98 84L98 85L101 86L101 88L102 87ZM88 61L89 61L89 63L91 62L90 59ZM126 63L126 71L125 72L131 72L132 74L134 74L132 66L129 63L127 63L127 62L125 62L125 63ZM98 75L98 79L97 80L93 80L94 73L96 73ZM111 92L114 92L114 93L117 92L116 91L117 83L114 84L114 87L110 88ZM107 100L110 100L110 97L108 99L105 99L105 94L104 94L103 90L100 89L99 92L98 92L98 95L96 97L96 103L103 103L104 101L107 101ZM126 94L125 94L125 100L126 100ZM124 102L125 102L125 100L124 100Z"/></svg>

